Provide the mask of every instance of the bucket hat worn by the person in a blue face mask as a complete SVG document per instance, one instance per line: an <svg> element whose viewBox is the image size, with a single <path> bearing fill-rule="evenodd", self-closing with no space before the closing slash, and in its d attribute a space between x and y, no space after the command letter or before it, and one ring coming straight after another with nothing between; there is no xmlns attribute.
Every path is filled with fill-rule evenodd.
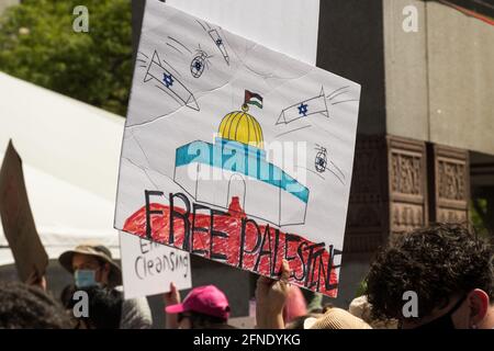
<svg viewBox="0 0 494 351"><path fill-rule="evenodd" d="M114 287L117 285L122 285L122 271L120 270L120 267L113 261L112 253L105 246L96 242L85 242L77 246L74 250L65 251L64 253L61 253L58 258L58 262L60 262L61 267L65 268L69 273L74 273L72 258L76 253L92 256L109 263L109 286Z"/></svg>

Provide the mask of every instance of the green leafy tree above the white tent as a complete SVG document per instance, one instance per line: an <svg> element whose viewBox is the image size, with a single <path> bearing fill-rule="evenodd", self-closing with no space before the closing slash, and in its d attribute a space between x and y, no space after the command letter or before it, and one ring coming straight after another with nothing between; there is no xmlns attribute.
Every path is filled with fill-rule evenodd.
<svg viewBox="0 0 494 351"><path fill-rule="evenodd" d="M77 33L77 5L89 32ZM0 70L125 115L132 82L130 0L24 0L0 19Z"/></svg>

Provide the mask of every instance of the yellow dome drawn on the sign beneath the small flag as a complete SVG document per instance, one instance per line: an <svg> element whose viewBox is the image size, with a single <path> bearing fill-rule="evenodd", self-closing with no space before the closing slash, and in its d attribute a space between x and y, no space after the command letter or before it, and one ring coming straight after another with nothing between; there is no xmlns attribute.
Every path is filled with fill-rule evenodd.
<svg viewBox="0 0 494 351"><path fill-rule="evenodd" d="M218 134L224 139L263 148L261 126L247 111L235 111L224 116L220 124Z"/></svg>

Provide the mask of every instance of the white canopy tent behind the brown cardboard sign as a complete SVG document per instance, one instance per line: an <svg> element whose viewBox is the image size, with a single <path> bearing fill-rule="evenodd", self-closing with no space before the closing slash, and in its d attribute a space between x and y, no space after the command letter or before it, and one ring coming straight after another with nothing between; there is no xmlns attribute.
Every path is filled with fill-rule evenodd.
<svg viewBox="0 0 494 351"><path fill-rule="evenodd" d="M49 258L86 240L120 258L113 213L125 120L4 73L0 95L0 162L12 139ZM0 265L11 263L0 226Z"/></svg>

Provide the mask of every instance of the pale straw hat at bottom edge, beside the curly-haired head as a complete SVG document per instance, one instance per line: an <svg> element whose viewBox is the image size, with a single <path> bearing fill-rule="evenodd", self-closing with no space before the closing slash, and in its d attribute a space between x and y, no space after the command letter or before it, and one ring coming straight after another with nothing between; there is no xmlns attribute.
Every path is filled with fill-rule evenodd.
<svg viewBox="0 0 494 351"><path fill-rule="evenodd" d="M329 308L319 318L307 318L304 329L372 329L362 319L341 308Z"/></svg>

